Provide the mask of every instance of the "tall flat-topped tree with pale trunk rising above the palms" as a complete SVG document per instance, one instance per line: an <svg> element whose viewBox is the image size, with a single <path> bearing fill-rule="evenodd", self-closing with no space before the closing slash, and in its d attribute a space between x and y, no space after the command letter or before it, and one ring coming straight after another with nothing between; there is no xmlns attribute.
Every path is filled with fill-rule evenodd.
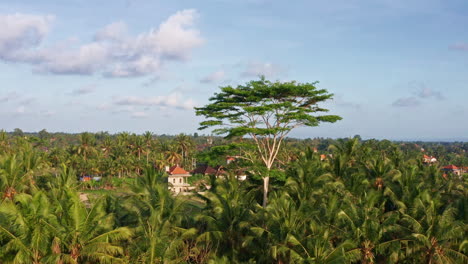
<svg viewBox="0 0 468 264"><path fill-rule="evenodd" d="M227 138L250 136L259 157L267 168L263 178L263 206L267 204L269 171L275 164L284 138L296 127L318 126L336 122L337 115L322 115L328 109L318 104L332 99L333 94L317 89L314 83L271 82L261 77L237 87L220 87L210 103L195 108L207 118L200 129L217 127L215 134Z"/></svg>

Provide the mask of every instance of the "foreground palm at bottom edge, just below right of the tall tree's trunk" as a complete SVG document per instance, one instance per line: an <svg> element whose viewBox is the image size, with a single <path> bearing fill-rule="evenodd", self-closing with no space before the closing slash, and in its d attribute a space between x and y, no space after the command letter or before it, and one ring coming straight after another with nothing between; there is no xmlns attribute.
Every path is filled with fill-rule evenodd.
<svg viewBox="0 0 468 264"><path fill-rule="evenodd" d="M251 246L267 249L255 251L265 263L343 263L349 242L333 245L332 233L327 227L312 220L312 214L303 210L287 193L272 195L265 209L264 226L255 226ZM261 223L261 222L260 222ZM261 245L260 247L258 245Z"/></svg>

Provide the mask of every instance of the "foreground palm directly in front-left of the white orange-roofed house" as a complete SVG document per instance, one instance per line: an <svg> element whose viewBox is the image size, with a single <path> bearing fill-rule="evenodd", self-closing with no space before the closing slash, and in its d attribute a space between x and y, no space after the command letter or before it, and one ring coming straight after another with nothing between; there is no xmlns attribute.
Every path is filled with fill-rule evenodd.
<svg viewBox="0 0 468 264"><path fill-rule="evenodd" d="M180 261L184 258L182 239L195 234L194 229L180 226L185 203L174 198L164 182L161 174L148 167L130 186L132 195L126 205L137 219L137 238L130 254L139 263Z"/></svg>

